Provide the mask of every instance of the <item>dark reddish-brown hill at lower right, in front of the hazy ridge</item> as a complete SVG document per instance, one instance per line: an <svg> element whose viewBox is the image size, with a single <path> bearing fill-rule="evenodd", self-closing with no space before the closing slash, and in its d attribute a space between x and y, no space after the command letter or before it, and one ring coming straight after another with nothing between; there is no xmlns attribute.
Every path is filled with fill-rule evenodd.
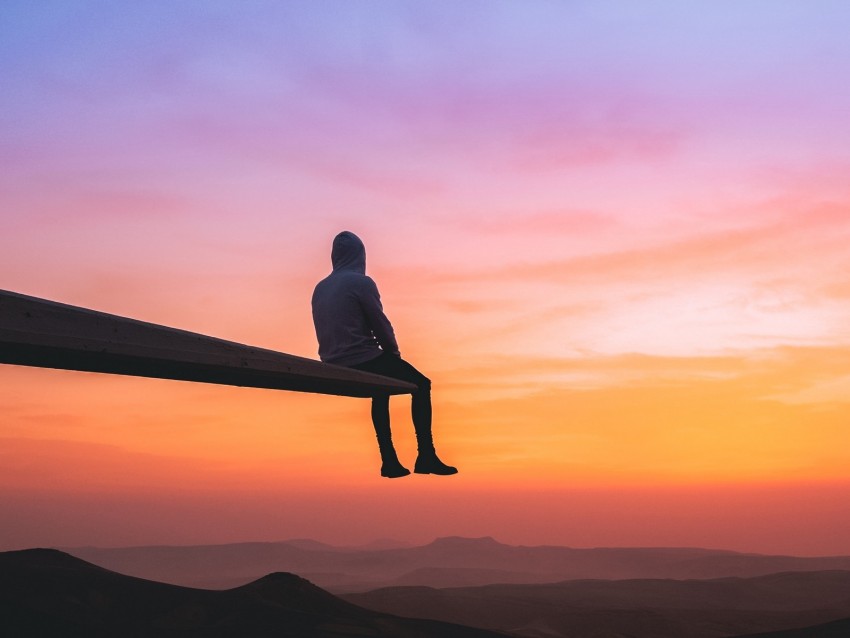
<svg viewBox="0 0 850 638"><path fill-rule="evenodd" d="M847 618L850 571L713 580L578 580L449 589L391 587L343 598L385 613L456 622L529 638L720 638ZM850 633L836 635L850 637Z"/></svg>

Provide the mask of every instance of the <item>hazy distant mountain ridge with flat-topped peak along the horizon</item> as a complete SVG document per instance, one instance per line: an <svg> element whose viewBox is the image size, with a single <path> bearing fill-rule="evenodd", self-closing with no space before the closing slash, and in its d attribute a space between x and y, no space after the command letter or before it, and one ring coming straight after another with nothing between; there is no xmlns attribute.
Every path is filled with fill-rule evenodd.
<svg viewBox="0 0 850 638"><path fill-rule="evenodd" d="M299 539L66 551L121 573L180 585L233 587L272 571L286 571L335 593L391 585L460 587L577 579L710 579L850 570L847 556L799 558L697 548L517 547L489 537L440 538L418 547L381 549L332 547Z"/></svg>

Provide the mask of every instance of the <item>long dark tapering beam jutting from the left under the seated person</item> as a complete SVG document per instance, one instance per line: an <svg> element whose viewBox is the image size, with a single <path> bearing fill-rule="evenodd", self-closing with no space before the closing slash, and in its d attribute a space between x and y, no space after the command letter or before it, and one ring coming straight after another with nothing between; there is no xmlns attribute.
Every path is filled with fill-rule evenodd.
<svg viewBox="0 0 850 638"><path fill-rule="evenodd" d="M0 363L352 397L413 384L0 290Z"/></svg>

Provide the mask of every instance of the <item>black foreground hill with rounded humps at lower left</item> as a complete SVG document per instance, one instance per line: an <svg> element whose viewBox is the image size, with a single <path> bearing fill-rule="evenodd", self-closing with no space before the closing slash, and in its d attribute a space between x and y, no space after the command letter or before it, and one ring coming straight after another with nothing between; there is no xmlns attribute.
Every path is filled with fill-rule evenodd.
<svg viewBox="0 0 850 638"><path fill-rule="evenodd" d="M152 582L56 550L0 553L0 636L14 638L497 638L398 618L336 598L292 574L226 591Z"/></svg>

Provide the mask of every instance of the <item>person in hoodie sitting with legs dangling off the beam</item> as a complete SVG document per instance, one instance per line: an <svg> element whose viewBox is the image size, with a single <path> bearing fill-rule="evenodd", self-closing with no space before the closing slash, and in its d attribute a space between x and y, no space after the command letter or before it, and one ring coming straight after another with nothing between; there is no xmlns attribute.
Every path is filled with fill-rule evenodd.
<svg viewBox="0 0 850 638"><path fill-rule="evenodd" d="M333 272L313 291L313 323L319 339L319 357L326 363L348 366L417 386L411 411L419 455L417 474L455 474L434 451L431 437L431 381L401 358L393 327L384 314L375 282L366 275L366 248L352 232L334 237ZM396 456L390 432L390 397L372 398L372 423L381 450L381 476L398 478L410 470Z"/></svg>

